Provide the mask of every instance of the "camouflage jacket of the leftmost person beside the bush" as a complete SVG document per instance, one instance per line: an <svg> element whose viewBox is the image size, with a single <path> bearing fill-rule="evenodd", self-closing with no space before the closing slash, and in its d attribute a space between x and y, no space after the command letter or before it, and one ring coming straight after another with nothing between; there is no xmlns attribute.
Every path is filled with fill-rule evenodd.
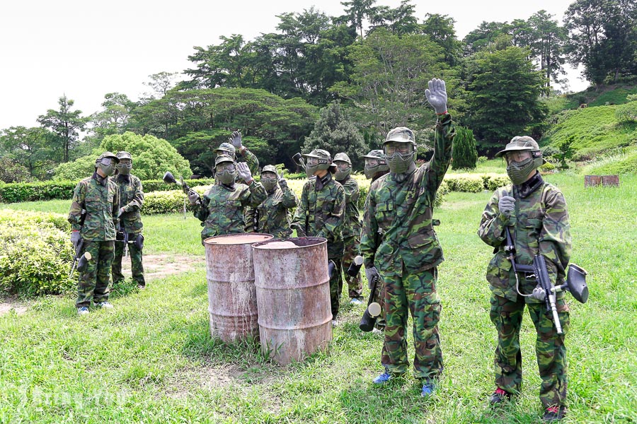
<svg viewBox="0 0 637 424"><path fill-rule="evenodd" d="M113 179L93 172L92 177L82 179L75 187L69 212L71 229L79 230L81 237L90 242L115 240L119 204ZM86 218L80 227L82 209L86 209Z"/></svg>

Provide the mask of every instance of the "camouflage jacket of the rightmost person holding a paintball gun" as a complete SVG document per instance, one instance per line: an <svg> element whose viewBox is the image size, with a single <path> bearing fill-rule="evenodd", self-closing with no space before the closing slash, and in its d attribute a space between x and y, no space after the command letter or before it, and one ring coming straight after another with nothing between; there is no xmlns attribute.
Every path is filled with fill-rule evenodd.
<svg viewBox="0 0 637 424"><path fill-rule="evenodd" d="M536 176L541 179L539 174ZM502 196L515 198L515 212L511 218L500 214L498 201ZM570 260L570 225L566 201L560 190L547 182L541 181L531 194L522 198L516 186L508 185L495 191L487 204L478 235L487 245L495 247L495 256L487 267L487 281L494 295L515 301L515 274L511 261L507 259L505 226L510 227L511 237L515 245L515 261L522 265L531 265L536 254L544 254L549 269L551 283L561 283L565 276L563 269ZM535 278L526 278L518 273L520 292L529 294L536 286ZM558 293L558 298L563 293ZM525 298L527 302L539 302L533 298Z"/></svg>

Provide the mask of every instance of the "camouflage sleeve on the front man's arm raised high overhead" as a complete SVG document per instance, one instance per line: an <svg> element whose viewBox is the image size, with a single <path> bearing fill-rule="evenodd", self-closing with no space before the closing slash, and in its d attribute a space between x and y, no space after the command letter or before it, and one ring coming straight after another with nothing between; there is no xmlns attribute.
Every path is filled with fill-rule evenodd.
<svg viewBox="0 0 637 424"><path fill-rule="evenodd" d="M434 203L436 192L444 174L447 173L449 163L452 159L453 141L456 136L456 129L450 114L440 115L436 122L436 133L434 136L434 155L429 162L429 170L425 183L427 184L427 196L431 204Z"/></svg>

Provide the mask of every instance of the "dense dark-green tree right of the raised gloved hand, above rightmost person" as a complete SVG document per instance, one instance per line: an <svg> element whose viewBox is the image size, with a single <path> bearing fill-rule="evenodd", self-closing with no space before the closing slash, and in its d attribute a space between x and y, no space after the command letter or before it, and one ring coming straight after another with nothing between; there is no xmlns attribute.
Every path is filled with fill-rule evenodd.
<svg viewBox="0 0 637 424"><path fill-rule="evenodd" d="M480 146L509 141L546 115L539 101L546 80L529 59L529 49L510 46L478 52L466 63L469 112L466 122Z"/></svg>

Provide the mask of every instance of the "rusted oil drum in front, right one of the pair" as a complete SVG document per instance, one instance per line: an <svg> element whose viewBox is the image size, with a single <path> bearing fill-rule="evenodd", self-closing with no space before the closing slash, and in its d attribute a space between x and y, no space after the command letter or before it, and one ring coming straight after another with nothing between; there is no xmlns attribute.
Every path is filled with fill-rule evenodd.
<svg viewBox="0 0 637 424"><path fill-rule="evenodd" d="M281 364L332 339L327 242L294 237L253 245L261 349Z"/></svg>

